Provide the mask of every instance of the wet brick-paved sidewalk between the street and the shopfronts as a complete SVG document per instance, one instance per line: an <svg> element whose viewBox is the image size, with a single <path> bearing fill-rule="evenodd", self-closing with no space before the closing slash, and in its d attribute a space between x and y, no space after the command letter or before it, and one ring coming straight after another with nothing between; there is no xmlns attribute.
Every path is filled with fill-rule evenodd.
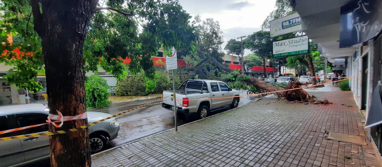
<svg viewBox="0 0 382 167"><path fill-rule="evenodd" d="M365 132L350 91L319 89L309 94L334 104L263 99L185 125L178 132L163 132L97 154L92 166L380 166L370 143L342 144L323 137L325 131L358 136ZM332 90L324 92L327 89Z"/></svg>

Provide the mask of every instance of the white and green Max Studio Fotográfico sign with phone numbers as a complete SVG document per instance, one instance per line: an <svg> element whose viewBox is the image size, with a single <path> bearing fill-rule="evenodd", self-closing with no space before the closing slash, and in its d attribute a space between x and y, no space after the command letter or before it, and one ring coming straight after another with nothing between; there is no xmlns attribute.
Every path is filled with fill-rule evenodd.
<svg viewBox="0 0 382 167"><path fill-rule="evenodd" d="M309 39L306 35L273 42L273 58L304 55L308 53Z"/></svg>

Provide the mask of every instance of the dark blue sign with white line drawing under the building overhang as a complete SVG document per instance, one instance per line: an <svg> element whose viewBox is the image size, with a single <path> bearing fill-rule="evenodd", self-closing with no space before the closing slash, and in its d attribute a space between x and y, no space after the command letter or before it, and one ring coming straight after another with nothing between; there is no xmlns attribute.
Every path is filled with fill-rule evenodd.
<svg viewBox="0 0 382 167"><path fill-rule="evenodd" d="M351 0L341 6L340 48L374 38L382 29L382 0Z"/></svg>

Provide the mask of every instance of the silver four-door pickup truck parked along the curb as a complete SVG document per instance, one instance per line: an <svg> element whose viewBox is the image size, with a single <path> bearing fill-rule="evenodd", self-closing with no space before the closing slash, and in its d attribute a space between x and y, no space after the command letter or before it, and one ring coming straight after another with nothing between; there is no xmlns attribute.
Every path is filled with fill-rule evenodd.
<svg viewBox="0 0 382 167"><path fill-rule="evenodd" d="M228 106L236 108L240 101L239 97L221 98L230 96L239 96L239 92L222 81L185 80L175 91L176 100L182 100L176 104L176 111L183 114L197 113L199 118L205 118L210 111L216 109ZM166 98L163 99L162 107L174 110L173 91L163 91L163 97Z"/></svg>

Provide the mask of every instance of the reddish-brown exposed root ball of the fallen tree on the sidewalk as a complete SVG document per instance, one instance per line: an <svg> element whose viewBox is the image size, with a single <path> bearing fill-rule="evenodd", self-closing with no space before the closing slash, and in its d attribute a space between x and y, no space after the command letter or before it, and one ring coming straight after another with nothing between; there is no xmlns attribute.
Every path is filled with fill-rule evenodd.
<svg viewBox="0 0 382 167"><path fill-rule="evenodd" d="M285 90L294 89L294 88L300 88L300 89L285 91L277 98L277 100L285 99L285 100L290 101L291 103L300 102L300 103L305 103L305 104L309 104L309 103L312 103L312 104L328 104L328 103L332 104L328 100L323 100L323 101L314 100L314 98L315 98L314 96L310 96L307 92L305 92L301 88L301 86L303 86L303 85L307 85L307 83L302 83L299 81L290 82L286 86Z"/></svg>

